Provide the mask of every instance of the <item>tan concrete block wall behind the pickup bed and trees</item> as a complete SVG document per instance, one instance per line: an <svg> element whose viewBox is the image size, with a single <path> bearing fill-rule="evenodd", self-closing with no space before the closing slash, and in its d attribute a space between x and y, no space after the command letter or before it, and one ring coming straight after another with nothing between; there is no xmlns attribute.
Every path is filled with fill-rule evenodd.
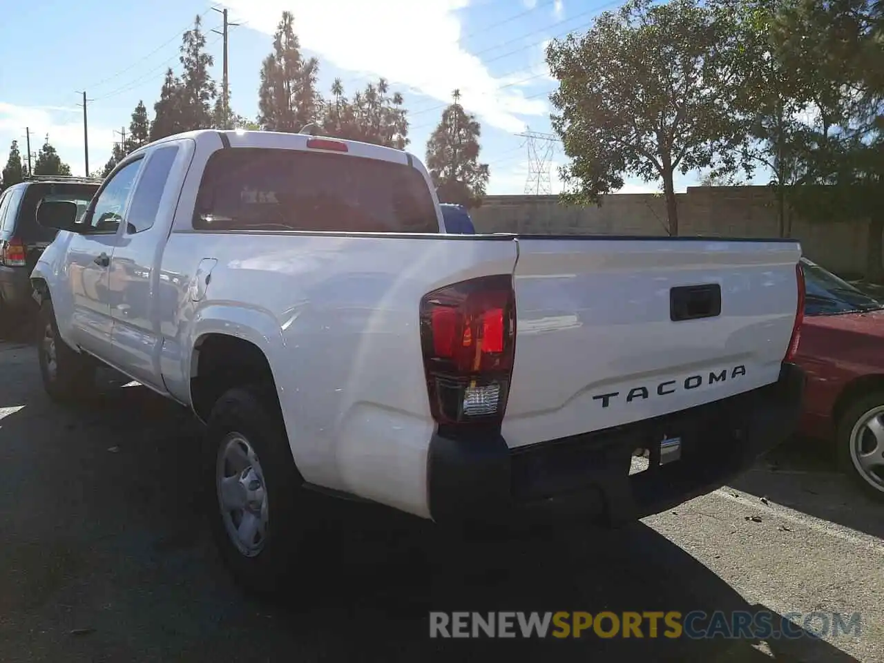
<svg viewBox="0 0 884 663"><path fill-rule="evenodd" d="M777 237L769 187L689 187L677 194L679 234ZM656 194L611 194L600 207L561 205L555 195L491 195L470 212L476 232L667 235L666 202ZM793 217L792 236L804 255L840 272L865 271L867 223L808 223Z"/></svg>

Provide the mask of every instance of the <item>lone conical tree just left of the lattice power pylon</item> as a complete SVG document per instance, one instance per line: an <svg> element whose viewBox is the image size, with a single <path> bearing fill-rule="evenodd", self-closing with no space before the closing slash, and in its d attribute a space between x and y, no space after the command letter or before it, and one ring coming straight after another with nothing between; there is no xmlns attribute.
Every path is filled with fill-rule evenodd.
<svg viewBox="0 0 884 663"><path fill-rule="evenodd" d="M479 163L482 128L460 100L460 91L454 90L453 103L442 111L442 120L427 141L427 168L439 202L472 208L482 204L491 172L488 164Z"/></svg>

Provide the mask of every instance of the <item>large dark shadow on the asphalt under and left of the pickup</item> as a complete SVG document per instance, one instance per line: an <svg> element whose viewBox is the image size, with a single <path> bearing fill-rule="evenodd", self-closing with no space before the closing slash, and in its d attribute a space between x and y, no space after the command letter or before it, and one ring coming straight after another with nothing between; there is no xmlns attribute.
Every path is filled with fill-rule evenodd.
<svg viewBox="0 0 884 663"><path fill-rule="evenodd" d="M202 519L188 413L141 387L58 408L34 377L33 348L10 352L5 374L19 383L0 386L4 660L854 660L809 636L428 637L429 611L765 609L641 523L451 537L377 507L322 502L299 582L279 603L246 598Z"/></svg>

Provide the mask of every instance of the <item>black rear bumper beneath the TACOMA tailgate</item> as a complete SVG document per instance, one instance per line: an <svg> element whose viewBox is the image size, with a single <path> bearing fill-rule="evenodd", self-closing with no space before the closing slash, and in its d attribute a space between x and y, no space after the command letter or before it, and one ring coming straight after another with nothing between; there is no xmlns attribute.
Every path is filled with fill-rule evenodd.
<svg viewBox="0 0 884 663"><path fill-rule="evenodd" d="M499 431L434 434L430 511L437 522L576 514L616 525L711 492L796 429L804 372L726 400L606 431L509 449ZM636 448L682 438L681 459L629 476ZM656 445L655 445L656 443ZM653 452L652 452L653 453Z"/></svg>

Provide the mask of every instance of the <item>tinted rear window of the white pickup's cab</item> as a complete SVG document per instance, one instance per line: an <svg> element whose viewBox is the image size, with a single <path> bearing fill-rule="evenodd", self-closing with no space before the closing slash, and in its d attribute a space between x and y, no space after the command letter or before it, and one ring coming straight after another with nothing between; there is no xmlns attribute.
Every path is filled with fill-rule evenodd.
<svg viewBox="0 0 884 663"><path fill-rule="evenodd" d="M418 171L358 156L220 149L202 175L201 230L439 232Z"/></svg>

